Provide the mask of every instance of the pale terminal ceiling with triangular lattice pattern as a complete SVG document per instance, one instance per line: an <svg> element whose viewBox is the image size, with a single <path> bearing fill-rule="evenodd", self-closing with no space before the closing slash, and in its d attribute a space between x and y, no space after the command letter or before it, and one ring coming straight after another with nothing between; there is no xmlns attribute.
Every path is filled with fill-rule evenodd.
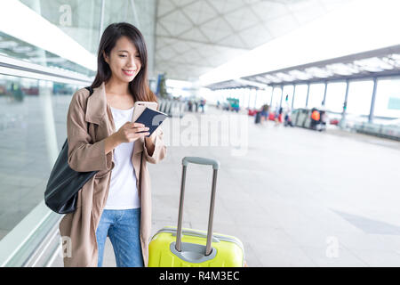
<svg viewBox="0 0 400 285"><path fill-rule="evenodd" d="M347 2L158 0L156 72L196 81L207 71Z"/></svg>

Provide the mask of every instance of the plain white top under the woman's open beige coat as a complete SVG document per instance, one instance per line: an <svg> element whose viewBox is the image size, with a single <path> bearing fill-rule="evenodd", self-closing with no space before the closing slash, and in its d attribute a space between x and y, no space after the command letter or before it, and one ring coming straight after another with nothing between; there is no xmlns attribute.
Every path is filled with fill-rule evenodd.
<svg viewBox="0 0 400 285"><path fill-rule="evenodd" d="M110 106L116 131L126 122L132 121L133 107L128 110ZM134 142L122 142L114 150L114 168L111 171L106 209L140 208L140 199L136 187L136 175L132 166Z"/></svg>

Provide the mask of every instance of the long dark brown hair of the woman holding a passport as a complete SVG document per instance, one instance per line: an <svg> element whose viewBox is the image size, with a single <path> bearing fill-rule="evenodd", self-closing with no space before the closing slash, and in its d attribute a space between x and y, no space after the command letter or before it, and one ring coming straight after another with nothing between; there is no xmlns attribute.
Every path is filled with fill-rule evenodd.
<svg viewBox="0 0 400 285"><path fill-rule="evenodd" d="M109 53L116 45L116 41L123 36L128 37L132 41L140 55L140 71L129 83L129 91L133 96L133 100L135 102L156 102L156 95L148 87L148 49L144 37L138 28L126 22L113 23L104 30L97 54L97 74L91 87L97 88L103 82L107 83L109 78L111 78L111 69L104 60L103 52L109 56Z"/></svg>

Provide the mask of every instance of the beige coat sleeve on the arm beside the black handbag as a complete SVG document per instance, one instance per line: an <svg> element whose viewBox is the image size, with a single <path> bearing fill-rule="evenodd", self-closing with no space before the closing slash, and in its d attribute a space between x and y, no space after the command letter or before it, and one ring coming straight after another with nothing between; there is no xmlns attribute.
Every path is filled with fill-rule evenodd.
<svg viewBox="0 0 400 285"><path fill-rule="evenodd" d="M92 142L88 134L88 123L84 120L84 98L74 94L68 108L68 165L78 172L109 170L112 167L112 153L105 154L105 141Z"/></svg>

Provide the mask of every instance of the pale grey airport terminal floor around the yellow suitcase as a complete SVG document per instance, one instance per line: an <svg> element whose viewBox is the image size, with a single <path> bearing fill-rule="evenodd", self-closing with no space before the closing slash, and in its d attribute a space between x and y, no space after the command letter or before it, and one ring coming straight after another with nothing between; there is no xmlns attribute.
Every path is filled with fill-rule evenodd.
<svg viewBox="0 0 400 285"><path fill-rule="evenodd" d="M241 116L210 107L209 115ZM168 128L165 128L168 132ZM178 218L181 159L220 160L213 232L244 242L249 266L400 265L400 143L328 129L260 126L248 118L248 148L169 146L149 165L152 233ZM212 170L189 166L183 226L207 228ZM103 266L115 266L107 241ZM58 257L53 266L62 266Z"/></svg>

